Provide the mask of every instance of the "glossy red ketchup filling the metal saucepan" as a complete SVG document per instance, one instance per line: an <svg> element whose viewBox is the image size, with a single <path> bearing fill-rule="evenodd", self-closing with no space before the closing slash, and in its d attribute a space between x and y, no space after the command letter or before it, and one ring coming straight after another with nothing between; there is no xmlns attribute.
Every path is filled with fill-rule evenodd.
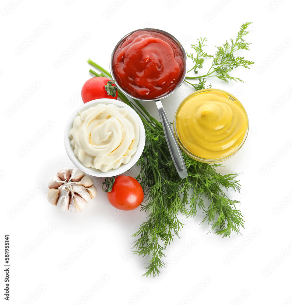
<svg viewBox="0 0 292 305"><path fill-rule="evenodd" d="M184 73L178 44L155 30L137 30L114 52L112 68L118 85L138 99L159 99L171 92Z"/></svg>

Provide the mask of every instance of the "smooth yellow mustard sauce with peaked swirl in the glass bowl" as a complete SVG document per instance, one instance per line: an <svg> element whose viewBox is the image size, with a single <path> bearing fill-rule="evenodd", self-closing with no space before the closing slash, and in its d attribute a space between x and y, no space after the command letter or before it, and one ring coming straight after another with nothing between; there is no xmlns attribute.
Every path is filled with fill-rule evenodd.
<svg viewBox="0 0 292 305"><path fill-rule="evenodd" d="M217 89L189 95L176 113L181 144L195 156L220 159L232 154L245 137L248 118L243 106Z"/></svg>

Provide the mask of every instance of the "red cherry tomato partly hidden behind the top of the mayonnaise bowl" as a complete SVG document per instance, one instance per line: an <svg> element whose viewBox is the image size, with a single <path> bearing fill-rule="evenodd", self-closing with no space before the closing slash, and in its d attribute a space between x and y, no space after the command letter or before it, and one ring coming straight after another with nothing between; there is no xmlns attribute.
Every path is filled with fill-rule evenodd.
<svg viewBox="0 0 292 305"><path fill-rule="evenodd" d="M104 86L107 85L108 81L111 80L107 77L102 76L92 77L88 81L86 81L81 89L81 97L83 103L87 103L89 101L92 101L93 99L117 99L118 91L116 91L115 84L108 85L112 95L107 94L107 90Z"/></svg>

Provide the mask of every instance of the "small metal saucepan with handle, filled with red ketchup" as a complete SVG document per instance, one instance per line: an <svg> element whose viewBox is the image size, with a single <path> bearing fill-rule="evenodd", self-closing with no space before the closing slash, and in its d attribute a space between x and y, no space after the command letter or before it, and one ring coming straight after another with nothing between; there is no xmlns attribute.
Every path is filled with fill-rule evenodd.
<svg viewBox="0 0 292 305"><path fill-rule="evenodd" d="M118 88L132 99L155 101L172 160L181 178L188 176L161 99L183 83L186 53L171 34L157 29L135 30L123 37L111 55L110 70Z"/></svg>

